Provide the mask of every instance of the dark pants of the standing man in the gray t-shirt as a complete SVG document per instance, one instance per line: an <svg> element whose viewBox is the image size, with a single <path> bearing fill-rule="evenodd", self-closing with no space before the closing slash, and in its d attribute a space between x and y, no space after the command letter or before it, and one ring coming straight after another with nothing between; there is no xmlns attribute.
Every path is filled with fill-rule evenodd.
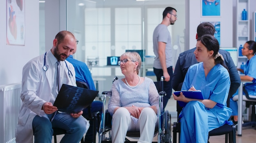
<svg viewBox="0 0 256 143"><path fill-rule="evenodd" d="M154 69L154 73L157 76L157 81L161 81L161 76L164 75L163 69ZM170 80L168 82L164 81L164 91L166 92L166 96L164 96L163 106L164 108L167 105L168 100L171 98L172 95L172 79L173 79L173 66L167 67L168 74L170 75Z"/></svg>

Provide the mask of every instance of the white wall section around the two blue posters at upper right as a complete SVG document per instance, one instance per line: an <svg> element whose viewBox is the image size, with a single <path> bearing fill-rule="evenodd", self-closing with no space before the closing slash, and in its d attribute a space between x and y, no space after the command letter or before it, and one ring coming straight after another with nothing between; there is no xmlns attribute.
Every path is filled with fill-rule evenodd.
<svg viewBox="0 0 256 143"><path fill-rule="evenodd" d="M188 0L186 1L188 2ZM220 17L202 17L201 15L202 0L193 0L189 2L189 49L195 47L196 30L201 22L220 22L220 46L232 47L233 46L233 5L232 0L220 1Z"/></svg>

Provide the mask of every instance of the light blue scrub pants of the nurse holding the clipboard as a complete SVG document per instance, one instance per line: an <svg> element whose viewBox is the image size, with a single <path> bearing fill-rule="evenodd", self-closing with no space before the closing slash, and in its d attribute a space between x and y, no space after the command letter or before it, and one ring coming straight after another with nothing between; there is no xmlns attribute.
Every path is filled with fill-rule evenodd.
<svg viewBox="0 0 256 143"><path fill-rule="evenodd" d="M216 115L199 101L190 101L180 113L180 143L207 143L209 131L219 124Z"/></svg>

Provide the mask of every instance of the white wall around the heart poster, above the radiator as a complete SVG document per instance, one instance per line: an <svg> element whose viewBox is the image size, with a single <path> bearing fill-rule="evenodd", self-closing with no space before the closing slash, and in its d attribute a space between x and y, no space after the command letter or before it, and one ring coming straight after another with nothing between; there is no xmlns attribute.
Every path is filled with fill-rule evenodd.
<svg viewBox="0 0 256 143"><path fill-rule="evenodd" d="M6 2L0 4L0 85L21 82L22 67L39 55L38 0L25 0L25 46L6 44Z"/></svg>

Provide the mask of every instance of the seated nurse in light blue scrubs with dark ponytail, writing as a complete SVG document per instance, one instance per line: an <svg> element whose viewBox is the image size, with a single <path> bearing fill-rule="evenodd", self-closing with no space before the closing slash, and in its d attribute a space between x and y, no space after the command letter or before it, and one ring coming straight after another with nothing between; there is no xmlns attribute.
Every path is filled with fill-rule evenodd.
<svg viewBox="0 0 256 143"><path fill-rule="evenodd" d="M228 121L232 110L226 106L230 78L224 58L218 52L218 40L211 35L198 38L195 58L198 62L189 67L182 90L200 90L204 100L186 98L173 94L173 98L186 102L179 119L181 123L180 143L207 143L208 132Z"/></svg>

